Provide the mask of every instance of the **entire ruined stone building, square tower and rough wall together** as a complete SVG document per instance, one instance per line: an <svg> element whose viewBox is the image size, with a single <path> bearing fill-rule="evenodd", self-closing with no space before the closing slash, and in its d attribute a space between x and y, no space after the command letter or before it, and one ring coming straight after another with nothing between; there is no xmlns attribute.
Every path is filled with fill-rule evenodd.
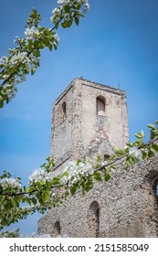
<svg viewBox="0 0 158 256"><path fill-rule="evenodd" d="M86 155L106 159L128 139L124 91L75 79L54 102L51 152L57 174L70 160ZM96 182L86 196L69 197L48 210L38 232L55 237L158 237L157 175L157 155L128 171L120 162L110 182Z"/></svg>

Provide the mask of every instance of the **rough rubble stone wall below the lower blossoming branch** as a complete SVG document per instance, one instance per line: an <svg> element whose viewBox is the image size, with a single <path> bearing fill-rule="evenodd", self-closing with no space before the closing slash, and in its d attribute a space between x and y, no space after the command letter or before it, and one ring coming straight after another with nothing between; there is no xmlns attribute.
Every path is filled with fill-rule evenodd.
<svg viewBox="0 0 158 256"><path fill-rule="evenodd" d="M158 155L128 170L120 163L110 182L96 182L84 197L69 197L59 208L49 210L39 220L38 232L52 234L59 221L60 233L68 237L158 237L153 184L157 175ZM98 213L90 208L93 202L99 206Z"/></svg>

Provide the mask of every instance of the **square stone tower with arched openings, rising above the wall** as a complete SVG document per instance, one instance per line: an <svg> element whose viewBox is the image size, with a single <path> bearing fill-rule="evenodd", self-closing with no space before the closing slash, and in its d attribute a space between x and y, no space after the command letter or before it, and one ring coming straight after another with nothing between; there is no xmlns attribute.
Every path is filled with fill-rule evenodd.
<svg viewBox="0 0 158 256"><path fill-rule="evenodd" d="M79 78L54 102L51 154L57 166L85 155L109 155L128 138L125 91Z"/></svg>

